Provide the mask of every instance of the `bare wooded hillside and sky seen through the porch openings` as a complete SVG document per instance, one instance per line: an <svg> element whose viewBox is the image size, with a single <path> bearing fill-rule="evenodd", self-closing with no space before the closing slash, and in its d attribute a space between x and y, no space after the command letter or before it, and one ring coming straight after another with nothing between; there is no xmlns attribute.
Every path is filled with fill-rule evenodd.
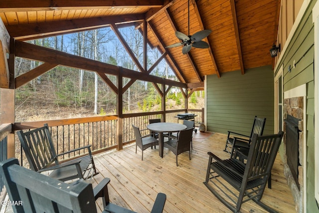
<svg viewBox="0 0 319 213"><path fill-rule="evenodd" d="M135 57L143 64L143 36L133 26L120 28L120 32ZM111 28L82 31L72 34L27 41L70 54L138 71ZM148 45L148 68L160 58L157 48ZM41 65L40 61L16 58L15 76ZM152 75L177 80L164 60ZM108 75L116 85L116 76ZM125 85L130 79L124 78ZM123 85L123 86L124 86ZM166 109L184 108L180 88L171 88L166 95ZM189 108L201 109L203 91L194 92L188 99ZM116 94L97 73L71 67L57 66L15 90L16 122L116 113ZM151 82L136 81L123 95L123 113L159 111L161 98Z"/></svg>

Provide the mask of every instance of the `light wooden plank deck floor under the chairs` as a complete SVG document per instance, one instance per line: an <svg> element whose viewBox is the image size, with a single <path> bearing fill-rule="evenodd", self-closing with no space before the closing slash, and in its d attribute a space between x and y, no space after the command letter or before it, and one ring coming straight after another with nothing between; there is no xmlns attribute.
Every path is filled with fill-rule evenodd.
<svg viewBox="0 0 319 213"><path fill-rule="evenodd" d="M229 213L227 209L204 186L208 155L211 151L220 158L228 158L223 152L226 135L213 133L193 133L191 160L185 152L175 156L164 148L164 157L159 157L158 149L135 154L135 144L121 151L110 151L95 156L100 174L94 177L93 185L103 177L111 179L109 185L112 203L139 213L150 212L158 192L165 193L167 200L165 213ZM207 137L208 136L208 137ZM207 138L206 138L207 137ZM272 170L272 189L266 188L262 201L278 212L296 212L293 197L284 177L283 164L278 155ZM97 202L101 209L101 201ZM264 213L257 204L249 201L242 205L243 213Z"/></svg>

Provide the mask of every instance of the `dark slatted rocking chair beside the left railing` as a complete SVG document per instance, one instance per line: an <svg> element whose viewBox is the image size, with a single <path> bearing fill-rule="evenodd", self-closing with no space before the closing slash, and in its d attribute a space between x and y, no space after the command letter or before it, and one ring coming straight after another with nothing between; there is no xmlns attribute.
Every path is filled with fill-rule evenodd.
<svg viewBox="0 0 319 213"><path fill-rule="evenodd" d="M47 124L27 132L20 130L17 135L30 169L33 171L39 173L51 171L49 176L60 181L69 181L77 178L91 181L93 176L99 174L95 168L90 149L91 145L56 154ZM87 153L65 163L59 162L60 156L69 155L80 150L87 150Z"/></svg>

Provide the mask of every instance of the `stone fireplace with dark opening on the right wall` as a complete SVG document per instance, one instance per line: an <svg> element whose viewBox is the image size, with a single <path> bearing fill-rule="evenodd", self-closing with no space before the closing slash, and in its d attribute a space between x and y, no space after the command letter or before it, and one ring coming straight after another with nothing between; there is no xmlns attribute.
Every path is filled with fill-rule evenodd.
<svg viewBox="0 0 319 213"><path fill-rule="evenodd" d="M284 99L284 173L291 188L296 212L303 212L305 97Z"/></svg>

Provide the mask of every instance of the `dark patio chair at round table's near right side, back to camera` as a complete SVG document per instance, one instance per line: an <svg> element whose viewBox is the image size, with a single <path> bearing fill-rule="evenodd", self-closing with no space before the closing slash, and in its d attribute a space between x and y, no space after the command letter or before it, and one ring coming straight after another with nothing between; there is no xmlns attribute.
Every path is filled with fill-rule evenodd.
<svg viewBox="0 0 319 213"><path fill-rule="evenodd" d="M167 136L170 138L167 142L164 143L164 147L168 148L170 151L172 151L176 156L176 166L178 167L177 163L177 156L183 152L188 151L189 154L189 160L190 160L190 142L193 134L193 129L185 129L180 130L178 133L177 140L174 138L171 138L170 136Z"/></svg>

